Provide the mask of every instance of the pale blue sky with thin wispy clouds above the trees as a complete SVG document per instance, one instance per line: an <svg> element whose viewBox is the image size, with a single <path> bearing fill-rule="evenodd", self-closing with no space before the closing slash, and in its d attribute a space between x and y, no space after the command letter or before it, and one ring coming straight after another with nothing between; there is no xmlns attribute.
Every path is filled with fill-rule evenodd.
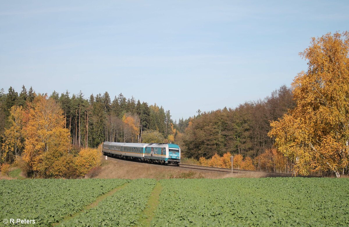
<svg viewBox="0 0 349 227"><path fill-rule="evenodd" d="M235 108L290 86L348 1L0 0L0 89L122 93L170 110Z"/></svg>

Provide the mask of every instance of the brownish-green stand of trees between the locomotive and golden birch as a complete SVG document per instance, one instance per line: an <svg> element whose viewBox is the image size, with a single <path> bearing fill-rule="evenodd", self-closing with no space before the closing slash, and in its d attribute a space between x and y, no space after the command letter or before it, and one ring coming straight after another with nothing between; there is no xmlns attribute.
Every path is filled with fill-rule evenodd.
<svg viewBox="0 0 349 227"><path fill-rule="evenodd" d="M263 100L250 101L236 108L200 112L190 119L182 150L188 158L211 158L214 154L241 154L252 159L273 147L268 136L270 121L295 107L291 89L283 85Z"/></svg>

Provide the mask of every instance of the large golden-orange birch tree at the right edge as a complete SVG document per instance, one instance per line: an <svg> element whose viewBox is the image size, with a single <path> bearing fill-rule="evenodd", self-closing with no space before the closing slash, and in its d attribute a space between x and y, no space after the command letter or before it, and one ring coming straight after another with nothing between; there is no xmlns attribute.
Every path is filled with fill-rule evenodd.
<svg viewBox="0 0 349 227"><path fill-rule="evenodd" d="M331 171L340 177L349 160L349 32L312 38L300 55L307 72L292 83L296 107L271 123L269 136L294 162L295 174Z"/></svg>

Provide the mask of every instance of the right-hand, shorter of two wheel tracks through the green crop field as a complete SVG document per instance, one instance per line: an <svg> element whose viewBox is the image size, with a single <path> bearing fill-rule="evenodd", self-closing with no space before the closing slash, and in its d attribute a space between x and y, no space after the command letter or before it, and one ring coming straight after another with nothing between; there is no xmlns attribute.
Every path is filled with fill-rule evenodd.
<svg viewBox="0 0 349 227"><path fill-rule="evenodd" d="M143 214L141 215L141 219L139 220L139 225L137 227L150 226L150 222L151 220L153 220L155 211L159 205L159 197L161 191L162 185L160 184L160 182L157 182L156 186L151 192L146 209L144 209Z"/></svg>

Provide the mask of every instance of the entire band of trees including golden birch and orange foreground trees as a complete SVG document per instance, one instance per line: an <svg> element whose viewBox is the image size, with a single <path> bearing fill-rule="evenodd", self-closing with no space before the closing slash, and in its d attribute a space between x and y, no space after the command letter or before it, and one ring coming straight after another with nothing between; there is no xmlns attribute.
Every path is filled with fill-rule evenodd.
<svg viewBox="0 0 349 227"><path fill-rule="evenodd" d="M103 141L158 142L179 144L182 157L203 165L225 166L232 155L237 168L339 177L349 163L348 37L344 32L313 38L300 53L309 68L291 87L282 85L264 99L235 108L199 109L178 122L170 110L122 93L112 100L107 91L85 98L82 91L47 95L24 85L19 94L12 87L7 93L1 89L0 164L24 157L31 171L56 177L62 166L50 172L50 160L73 155L64 166L76 168L72 159L80 157L82 148ZM52 145L60 148L47 155ZM32 159L38 155L40 160ZM47 165L40 167L43 157Z"/></svg>

